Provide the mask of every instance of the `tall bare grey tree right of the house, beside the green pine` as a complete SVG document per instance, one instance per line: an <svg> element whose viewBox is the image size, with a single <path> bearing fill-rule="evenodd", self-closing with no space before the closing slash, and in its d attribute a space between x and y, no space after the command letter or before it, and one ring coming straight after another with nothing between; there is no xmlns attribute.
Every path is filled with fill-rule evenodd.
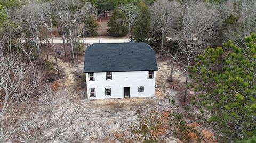
<svg viewBox="0 0 256 143"><path fill-rule="evenodd" d="M179 47L181 52L185 53L185 57L180 59L186 60L185 65L186 86L188 84L189 72L188 68L193 58L197 57L202 49L215 38L218 25L219 12L212 5L193 0L185 3L182 8L181 30L178 35ZM174 65L174 64L172 64ZM172 76L172 75L171 75ZM187 89L184 94L186 100Z"/></svg>

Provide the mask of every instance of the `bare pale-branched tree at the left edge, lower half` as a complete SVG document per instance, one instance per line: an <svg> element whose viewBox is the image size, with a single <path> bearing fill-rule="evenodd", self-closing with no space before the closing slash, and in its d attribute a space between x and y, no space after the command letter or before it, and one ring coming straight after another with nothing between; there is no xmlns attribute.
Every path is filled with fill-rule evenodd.
<svg viewBox="0 0 256 143"><path fill-rule="evenodd" d="M20 112L20 103L26 102L38 87L39 76L33 76L34 69L22 62L20 56L6 55L0 60L0 141L24 127L13 128Z"/></svg>

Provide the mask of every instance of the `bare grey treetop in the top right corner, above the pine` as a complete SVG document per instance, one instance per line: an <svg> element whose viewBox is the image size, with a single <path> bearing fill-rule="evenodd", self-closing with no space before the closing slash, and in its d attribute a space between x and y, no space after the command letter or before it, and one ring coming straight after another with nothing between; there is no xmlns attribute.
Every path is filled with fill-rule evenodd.
<svg viewBox="0 0 256 143"><path fill-rule="evenodd" d="M231 39L236 44L240 44L245 36L256 31L256 1L229 0L219 9L222 11L222 19L231 21L226 23L222 32L225 40Z"/></svg>

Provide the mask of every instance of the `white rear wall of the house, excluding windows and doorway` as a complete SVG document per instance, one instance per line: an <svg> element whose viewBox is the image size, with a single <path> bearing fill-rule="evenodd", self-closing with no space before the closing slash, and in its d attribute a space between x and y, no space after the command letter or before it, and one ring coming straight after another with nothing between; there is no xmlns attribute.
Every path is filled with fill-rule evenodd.
<svg viewBox="0 0 256 143"><path fill-rule="evenodd" d="M112 72L112 80L106 80L106 72L94 72L94 81L88 79L86 73L88 99L124 98L124 87L130 87L130 98L155 96L156 71L153 79L148 79L148 71ZM90 88L95 88L96 97L90 97ZM105 96L105 88L111 88L111 96Z"/></svg>

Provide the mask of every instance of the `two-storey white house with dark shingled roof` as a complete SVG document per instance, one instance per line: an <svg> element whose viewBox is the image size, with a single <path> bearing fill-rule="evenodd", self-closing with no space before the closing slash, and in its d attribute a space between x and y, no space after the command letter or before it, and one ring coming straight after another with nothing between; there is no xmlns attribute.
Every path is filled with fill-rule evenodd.
<svg viewBox="0 0 256 143"><path fill-rule="evenodd" d="M84 57L88 99L153 97L157 63L146 43L95 43Z"/></svg>

